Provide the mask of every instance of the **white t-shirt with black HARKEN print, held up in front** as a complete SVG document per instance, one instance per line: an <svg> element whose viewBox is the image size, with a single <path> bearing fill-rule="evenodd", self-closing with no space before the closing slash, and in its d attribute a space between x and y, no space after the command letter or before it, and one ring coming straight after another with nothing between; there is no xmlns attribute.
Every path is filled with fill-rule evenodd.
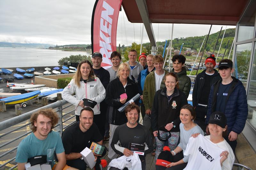
<svg viewBox="0 0 256 170"><path fill-rule="evenodd" d="M206 139L203 135L190 137L184 155L189 155L188 165L184 170L220 169L220 153L224 150Z"/></svg>

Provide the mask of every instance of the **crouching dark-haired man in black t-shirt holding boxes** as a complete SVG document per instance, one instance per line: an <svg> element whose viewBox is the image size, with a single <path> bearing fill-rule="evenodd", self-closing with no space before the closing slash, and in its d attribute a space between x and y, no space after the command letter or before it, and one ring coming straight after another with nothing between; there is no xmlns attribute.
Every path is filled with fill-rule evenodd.
<svg viewBox="0 0 256 170"><path fill-rule="evenodd" d="M85 147L90 148L92 142L103 144L102 136L97 125L93 122L93 110L91 107L84 107L80 112L80 121L69 126L62 134L62 143L65 149L67 165L84 170L86 163L82 160L80 152ZM95 169L100 169L100 159L94 155Z"/></svg>

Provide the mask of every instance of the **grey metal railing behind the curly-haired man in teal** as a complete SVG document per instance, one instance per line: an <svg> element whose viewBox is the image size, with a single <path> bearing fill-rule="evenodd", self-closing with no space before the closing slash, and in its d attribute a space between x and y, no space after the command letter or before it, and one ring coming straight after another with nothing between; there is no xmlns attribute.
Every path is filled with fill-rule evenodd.
<svg viewBox="0 0 256 170"><path fill-rule="evenodd" d="M67 105L67 104L69 104L69 105ZM64 105L65 105L65 107L64 107ZM64 109L68 110L68 108L70 106L73 106L73 105L68 103L66 100L60 100L60 101L56 101L56 102L54 102L52 104L49 104L47 106L40 107L38 109L32 110L32 111L24 113L22 115L19 115L19 116L13 117L11 119L5 120L3 122L0 122L0 132L2 133L3 131L5 131L4 133L2 133L0 135L0 138L2 140L3 137L6 137L7 135L10 135L13 132L16 132L16 131L18 131L18 130L20 130L22 128L23 129L26 128L27 126L30 125L30 121L28 123L26 122L25 124L20 125L17 128L12 129L13 127L17 126L19 123L24 122L24 121L28 121L30 119L30 116L33 113L39 111L40 109L45 109L45 108L52 108L59 115L59 121L58 121L57 125L54 127L53 130L59 132L60 135L62 135L62 132L63 132L64 129L66 129L68 126L70 126L71 124L76 122L76 121L73 121L73 122L71 122L69 124L65 123L67 121L71 121L70 119L75 117L75 112L74 112L75 109L69 110L67 113L62 115L62 111ZM66 117L66 119L63 119L63 117ZM65 127L63 127L63 123L66 124ZM22 130L20 130L20 131L22 131ZM32 132L31 130L27 130L26 133L24 133L24 134L22 134L20 136L14 137L13 139L5 140L6 142L4 144L0 145L0 149L3 148L4 146L13 144L13 142L22 139L22 137L26 137L31 132ZM6 152L4 152L3 154L0 155L0 160L3 160L2 158L6 157L8 155L11 155L13 153L15 153L15 155L16 155L17 148L18 148L18 144L14 144L14 147L12 146L12 148L7 149L8 151L6 151ZM0 169L3 169L4 166L6 166L7 164L11 163L13 160L15 160L15 158L16 157L13 157L13 158L9 159L8 161L4 162L4 164L0 165ZM10 170L14 169L15 167L17 167L17 165L12 166L10 168Z"/></svg>

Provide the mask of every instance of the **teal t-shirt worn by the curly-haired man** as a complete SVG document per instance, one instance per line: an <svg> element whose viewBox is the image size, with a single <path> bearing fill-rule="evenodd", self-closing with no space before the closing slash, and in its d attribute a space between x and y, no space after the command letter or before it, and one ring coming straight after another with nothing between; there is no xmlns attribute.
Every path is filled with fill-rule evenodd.
<svg viewBox="0 0 256 170"><path fill-rule="evenodd" d="M47 155L47 160L52 160L53 166L54 151L56 154L65 151L58 132L51 131L44 140L37 139L34 133L31 133L28 137L20 142L17 149L16 162L24 163L27 162L31 157L37 155Z"/></svg>

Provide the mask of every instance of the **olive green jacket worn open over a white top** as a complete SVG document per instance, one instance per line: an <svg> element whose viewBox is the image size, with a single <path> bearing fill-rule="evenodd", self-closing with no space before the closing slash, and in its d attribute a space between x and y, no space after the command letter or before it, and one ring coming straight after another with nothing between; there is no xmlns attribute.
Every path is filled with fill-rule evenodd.
<svg viewBox="0 0 256 170"><path fill-rule="evenodd" d="M155 70L156 71L156 70ZM156 93L156 79L155 79L155 71L152 71L148 74L145 79L144 88L143 88L143 104L145 109L152 109L153 101ZM168 71L164 70L164 75L168 73ZM162 80L160 89L165 87L164 81Z"/></svg>

